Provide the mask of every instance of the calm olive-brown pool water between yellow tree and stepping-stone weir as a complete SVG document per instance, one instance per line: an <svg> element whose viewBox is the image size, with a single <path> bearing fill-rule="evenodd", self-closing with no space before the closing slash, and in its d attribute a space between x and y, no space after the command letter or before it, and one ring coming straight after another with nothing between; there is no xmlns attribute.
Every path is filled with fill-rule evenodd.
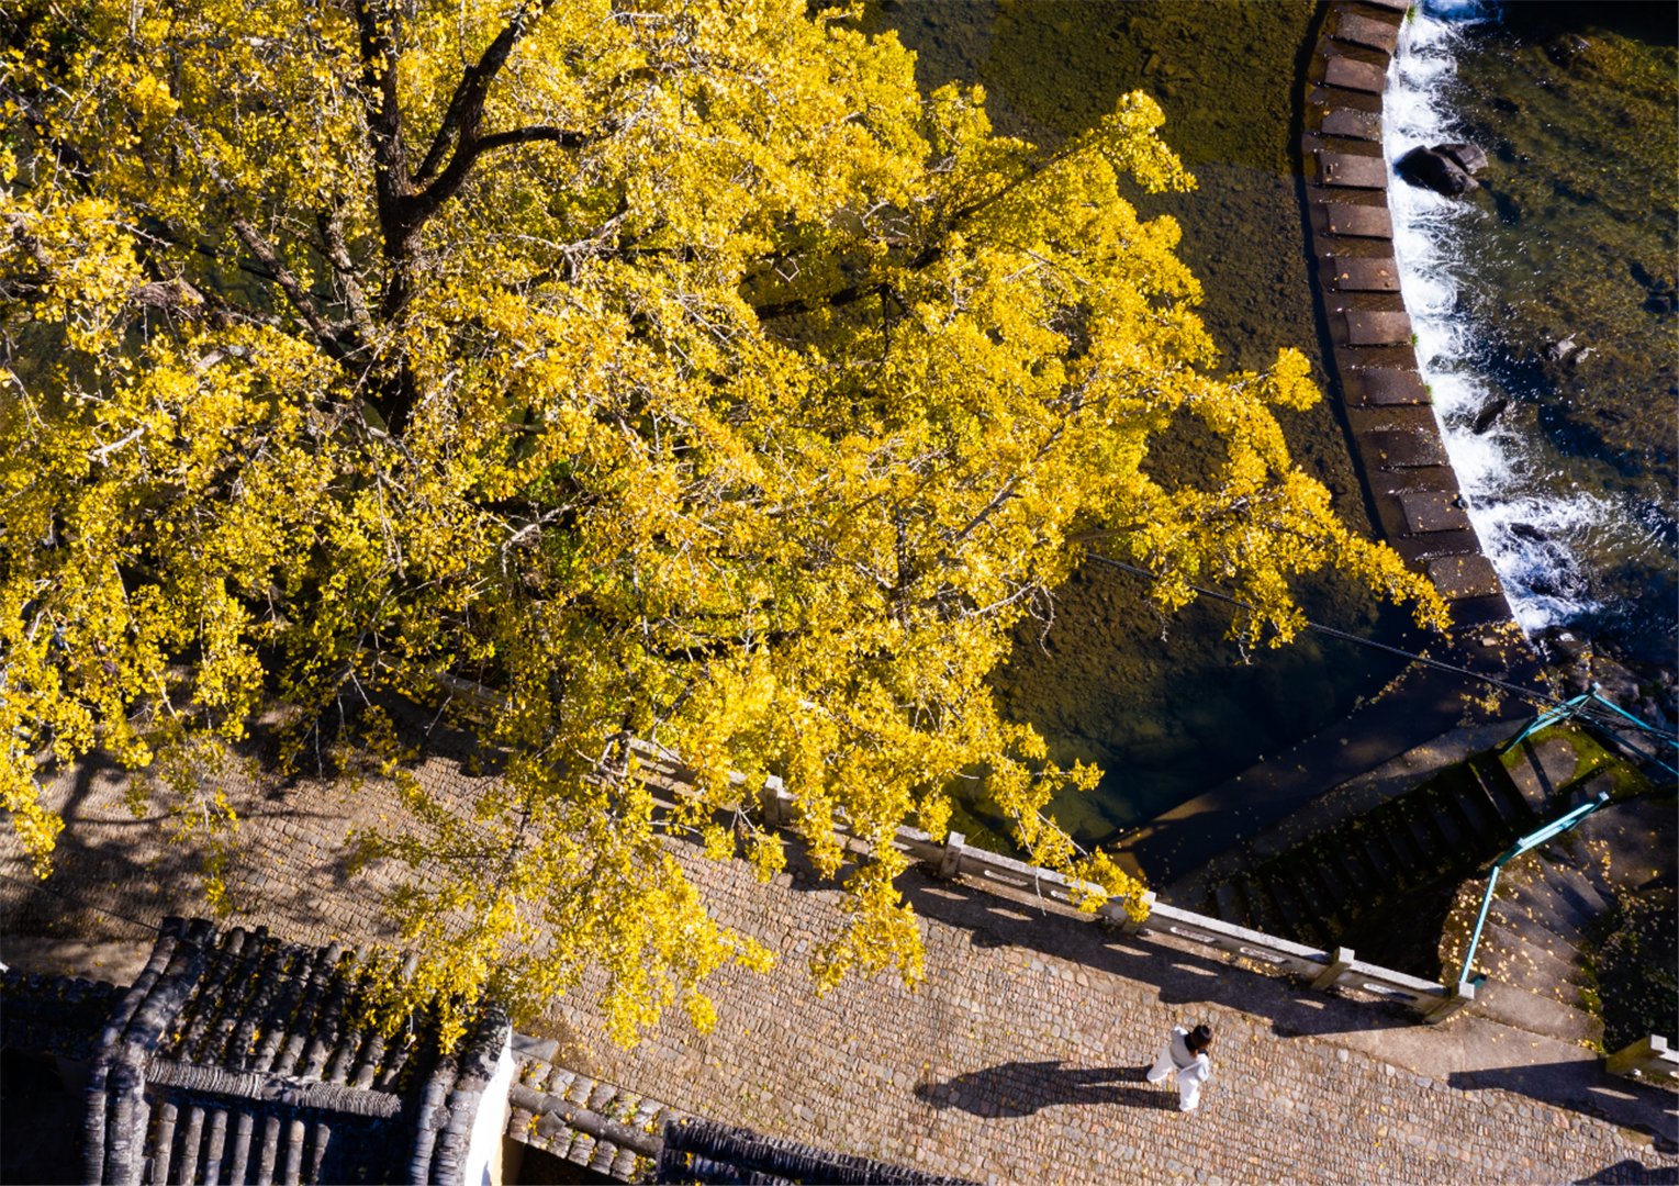
<svg viewBox="0 0 1679 1186"><path fill-rule="evenodd" d="M1318 353L1318 323L1293 141L1300 67L1315 34L1310 3L1033 3L917 0L871 5L870 32L917 52L923 87L981 84L999 131L1053 144L1135 89L1167 114L1165 139L1195 173L1189 195L1135 193L1170 213L1180 257L1202 281L1200 307L1229 370L1258 370L1281 346ZM1321 366L1316 373L1325 383ZM1278 412L1296 460L1335 494L1355 529L1370 522L1343 428L1323 403ZM1162 475L1199 470L1194 438L1162 440ZM1308 615L1392 638L1392 615L1330 580L1300 590ZM1054 625L1028 623L996 679L1004 711L1034 722L1061 763L1105 771L1088 796L1054 803L1081 840L1110 840L1274 754L1373 695L1397 664L1301 635L1242 664L1229 610L1197 603L1162 618L1140 578L1088 566L1056 595Z"/></svg>

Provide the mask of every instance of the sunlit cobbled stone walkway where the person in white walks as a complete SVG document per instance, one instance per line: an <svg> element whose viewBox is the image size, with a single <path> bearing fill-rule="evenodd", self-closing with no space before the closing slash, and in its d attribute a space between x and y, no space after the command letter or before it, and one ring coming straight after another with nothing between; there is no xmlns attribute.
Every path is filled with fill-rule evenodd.
<svg viewBox="0 0 1679 1186"><path fill-rule="evenodd" d="M442 761L425 778L467 781ZM277 795L235 779L233 790L247 818L235 887L257 909L248 921L296 937L379 937L378 887L344 877L343 835L390 803L314 785ZM8 936L124 937L104 910L198 909L183 853L133 820L116 779L65 779L59 796L74 821L54 894L18 880L10 837L0 848ZM685 858L724 921L781 952L777 968L722 976L710 1035L672 1015L636 1050L618 1050L588 993L544 1025L579 1070L692 1112L981 1181L1679 1181L1671 1097L1585 1087L1657 1115L1659 1141L1538 1102L1556 1099L1546 1065L1578 1075L1590 1063L1481 1018L1417 1026L1175 941L1108 934L920 875L905 887L923 919L927 983L910 993L853 979L816 998L804 961L836 924L836 894L798 867L762 887L742 865ZM1174 1021L1209 1021L1219 1035L1190 1115L1175 1110L1175 1092L1142 1082Z"/></svg>

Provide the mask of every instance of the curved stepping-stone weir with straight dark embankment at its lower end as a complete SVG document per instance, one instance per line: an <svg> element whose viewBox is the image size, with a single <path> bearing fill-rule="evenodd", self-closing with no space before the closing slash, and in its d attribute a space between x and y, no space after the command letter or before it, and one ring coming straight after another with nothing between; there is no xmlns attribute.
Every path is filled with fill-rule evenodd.
<svg viewBox="0 0 1679 1186"><path fill-rule="evenodd" d="M1464 511L1399 289L1382 94L1407 7L1331 0L1306 60L1303 202L1330 386L1382 538L1451 605L1454 637L1436 657L1531 685L1535 655ZM1464 675L1412 664L1375 702L1148 820L1120 840L1118 855L1162 887L1165 900L1197 909L1209 858L1454 729L1469 697L1486 690ZM1506 697L1491 716L1514 721L1528 711Z"/></svg>

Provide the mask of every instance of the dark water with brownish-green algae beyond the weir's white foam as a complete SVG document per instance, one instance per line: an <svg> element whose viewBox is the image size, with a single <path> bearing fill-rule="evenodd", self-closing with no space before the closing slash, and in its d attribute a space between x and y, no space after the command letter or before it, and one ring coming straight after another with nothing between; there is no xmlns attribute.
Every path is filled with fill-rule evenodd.
<svg viewBox="0 0 1679 1186"><path fill-rule="evenodd" d="M1674 662L1679 543L1679 47L1669 5L1506 5L1456 47L1454 134L1491 158L1454 220L1452 274L1488 407L1521 442L1499 501L1575 502L1558 538L1513 509L1518 600ZM1572 339L1578 353L1546 358ZM1474 408L1467 415L1474 415ZM1531 536L1531 538L1530 538ZM1496 541L1494 541L1496 543Z"/></svg>

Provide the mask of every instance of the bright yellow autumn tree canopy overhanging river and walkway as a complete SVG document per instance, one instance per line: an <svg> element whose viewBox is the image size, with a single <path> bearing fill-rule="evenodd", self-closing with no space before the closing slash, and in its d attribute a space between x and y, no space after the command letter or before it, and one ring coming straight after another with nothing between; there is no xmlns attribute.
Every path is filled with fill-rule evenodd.
<svg viewBox="0 0 1679 1186"><path fill-rule="evenodd" d="M45 874L47 763L101 748L185 823L252 724L356 743L408 818L366 852L433 988L531 1008L606 963L628 1038L704 1021L764 952L660 837L846 870L816 961L915 979L905 821L969 783L1115 889L987 675L1103 546L1167 608L1219 583L1286 640L1338 569L1442 608L1348 533L1271 407L1216 375L1170 218L1192 185L1130 94L1053 150L803 0L32 0L0 67L0 796ZM1148 465L1195 422L1195 480ZM470 811L379 694L499 697ZM646 739L697 771L655 811ZM732 774L744 774L744 785ZM729 815L732 811L732 816ZM861 847L848 857L838 825ZM220 825L220 832L215 827ZM220 835L222 840L215 837ZM514 959L517 956L517 959Z"/></svg>

